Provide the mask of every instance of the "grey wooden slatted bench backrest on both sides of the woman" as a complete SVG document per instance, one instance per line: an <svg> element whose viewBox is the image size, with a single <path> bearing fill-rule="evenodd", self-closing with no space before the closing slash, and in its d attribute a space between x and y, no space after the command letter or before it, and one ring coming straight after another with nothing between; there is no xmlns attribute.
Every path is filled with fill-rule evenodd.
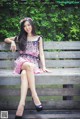
<svg viewBox="0 0 80 119"><path fill-rule="evenodd" d="M80 67L80 42L44 42L46 66L49 68ZM0 68L11 69L18 52L10 51L10 44L0 43Z"/></svg>

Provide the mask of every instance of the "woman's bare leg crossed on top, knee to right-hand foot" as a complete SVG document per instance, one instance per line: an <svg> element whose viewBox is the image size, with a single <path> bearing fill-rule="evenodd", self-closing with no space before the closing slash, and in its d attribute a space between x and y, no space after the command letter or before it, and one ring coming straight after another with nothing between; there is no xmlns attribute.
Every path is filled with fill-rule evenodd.
<svg viewBox="0 0 80 119"><path fill-rule="evenodd" d="M41 102L40 102L40 100L38 98L38 95L37 95L37 92L36 92L36 88L35 88L35 77L34 77L34 72L33 72L34 65L32 63L25 62L22 65L22 69L25 69L26 72L27 72L27 79L28 79L28 83L29 83L29 88L31 90L32 98L34 100L34 103L36 105L40 105Z"/></svg>

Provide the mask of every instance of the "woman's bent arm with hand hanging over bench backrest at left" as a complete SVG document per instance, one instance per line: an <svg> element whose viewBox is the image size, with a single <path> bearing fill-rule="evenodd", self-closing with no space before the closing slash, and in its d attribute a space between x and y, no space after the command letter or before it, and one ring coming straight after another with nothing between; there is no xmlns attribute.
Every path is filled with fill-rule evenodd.
<svg viewBox="0 0 80 119"><path fill-rule="evenodd" d="M11 43L10 50L12 50L12 52L16 51L15 37L5 38L4 42Z"/></svg>

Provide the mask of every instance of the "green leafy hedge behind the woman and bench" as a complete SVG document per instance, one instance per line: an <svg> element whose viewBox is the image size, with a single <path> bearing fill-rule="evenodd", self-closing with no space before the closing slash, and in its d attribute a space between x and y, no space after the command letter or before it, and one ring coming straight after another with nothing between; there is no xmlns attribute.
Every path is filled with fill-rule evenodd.
<svg viewBox="0 0 80 119"><path fill-rule="evenodd" d="M0 39L19 34L20 20L31 17L47 41L80 40L80 8L46 2L0 1Z"/></svg>

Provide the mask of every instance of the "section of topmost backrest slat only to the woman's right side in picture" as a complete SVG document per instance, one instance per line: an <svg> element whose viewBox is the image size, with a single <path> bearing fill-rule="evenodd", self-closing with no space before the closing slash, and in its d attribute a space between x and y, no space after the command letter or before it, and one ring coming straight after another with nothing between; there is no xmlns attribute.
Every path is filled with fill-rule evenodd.
<svg viewBox="0 0 80 119"><path fill-rule="evenodd" d="M80 41L44 42L44 49L80 50Z"/></svg>

